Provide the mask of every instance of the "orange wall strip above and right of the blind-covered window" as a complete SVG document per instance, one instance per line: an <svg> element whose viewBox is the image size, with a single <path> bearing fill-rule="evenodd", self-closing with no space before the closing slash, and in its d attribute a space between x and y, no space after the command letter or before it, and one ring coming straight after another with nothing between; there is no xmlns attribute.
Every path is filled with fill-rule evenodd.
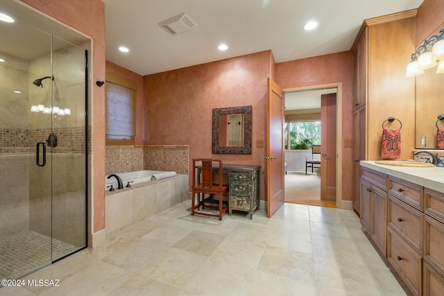
<svg viewBox="0 0 444 296"><path fill-rule="evenodd" d="M120 67L118 64L114 64L108 60L106 61L106 73L130 80L137 85L135 107L136 135L134 138L134 145L142 146L144 143L144 78L143 76Z"/></svg>

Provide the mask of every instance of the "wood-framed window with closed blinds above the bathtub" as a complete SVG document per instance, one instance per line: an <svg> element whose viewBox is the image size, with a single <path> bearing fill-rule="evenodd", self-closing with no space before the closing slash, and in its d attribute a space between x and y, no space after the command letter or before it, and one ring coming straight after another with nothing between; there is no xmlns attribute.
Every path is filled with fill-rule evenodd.
<svg viewBox="0 0 444 296"><path fill-rule="evenodd" d="M133 89L106 82L107 144L133 144L134 105Z"/></svg>

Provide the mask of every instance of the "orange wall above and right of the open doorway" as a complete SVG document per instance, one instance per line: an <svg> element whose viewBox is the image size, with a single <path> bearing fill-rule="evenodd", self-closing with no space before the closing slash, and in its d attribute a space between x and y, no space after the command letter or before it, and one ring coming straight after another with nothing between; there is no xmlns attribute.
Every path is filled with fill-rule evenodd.
<svg viewBox="0 0 444 296"><path fill-rule="evenodd" d="M342 82L342 136L352 140L353 60L351 51L276 64L275 81L282 89ZM352 200L352 148L343 146L342 200Z"/></svg>

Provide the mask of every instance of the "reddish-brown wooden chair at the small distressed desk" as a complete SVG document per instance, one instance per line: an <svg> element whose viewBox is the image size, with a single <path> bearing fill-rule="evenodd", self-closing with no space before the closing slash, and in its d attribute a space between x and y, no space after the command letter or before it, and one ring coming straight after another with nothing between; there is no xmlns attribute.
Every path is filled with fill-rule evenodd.
<svg viewBox="0 0 444 296"><path fill-rule="evenodd" d="M201 176L197 176L196 174L196 163L202 163L202 173ZM219 182L214 183L213 181L213 164L219 165ZM222 161L221 159L193 159L193 183L191 185L192 195L191 195L191 216L194 214L203 215L203 216L212 216L219 217L219 220L222 220L222 215L228 211L228 205L223 207L223 195L228 191L228 185L224 185L222 182ZM200 200L200 193L202 193L202 199ZM198 202L196 204L195 198L196 194L198 195ZM205 194L208 196L205 198ZM219 201L217 205L206 204L210 201L214 201L213 195L217 195L219 197ZM206 211L200 211L200 207L202 210L205 208L214 209L219 211L217 214L212 214Z"/></svg>

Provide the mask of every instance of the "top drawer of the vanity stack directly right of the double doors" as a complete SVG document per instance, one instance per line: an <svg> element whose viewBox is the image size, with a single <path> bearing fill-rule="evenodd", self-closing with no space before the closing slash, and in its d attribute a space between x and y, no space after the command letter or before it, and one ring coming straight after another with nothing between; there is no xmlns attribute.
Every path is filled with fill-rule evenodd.
<svg viewBox="0 0 444 296"><path fill-rule="evenodd" d="M388 177L388 193L416 209L422 209L422 186L395 177Z"/></svg>

